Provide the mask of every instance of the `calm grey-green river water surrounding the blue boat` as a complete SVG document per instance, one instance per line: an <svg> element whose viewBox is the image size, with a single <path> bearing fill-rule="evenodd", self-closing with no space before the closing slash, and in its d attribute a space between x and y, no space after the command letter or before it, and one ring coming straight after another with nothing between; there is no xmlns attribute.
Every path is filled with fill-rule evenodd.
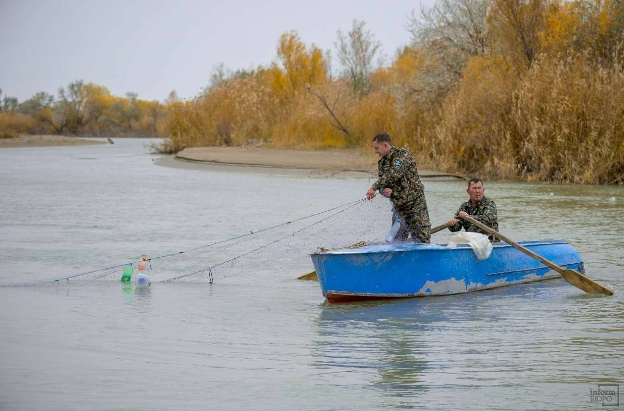
<svg viewBox="0 0 624 411"><path fill-rule="evenodd" d="M0 285L193 249L361 199L370 184L161 167L148 142L2 149ZM464 182L424 185L433 225L465 201ZM114 269L0 287L0 409L603 409L590 390L624 384L624 188L485 187L502 232L570 241L615 295L555 279L330 305L296 277L319 245L383 240L377 198L309 229L332 212L154 260L149 289ZM215 268L214 284L206 272L161 282L296 230Z"/></svg>

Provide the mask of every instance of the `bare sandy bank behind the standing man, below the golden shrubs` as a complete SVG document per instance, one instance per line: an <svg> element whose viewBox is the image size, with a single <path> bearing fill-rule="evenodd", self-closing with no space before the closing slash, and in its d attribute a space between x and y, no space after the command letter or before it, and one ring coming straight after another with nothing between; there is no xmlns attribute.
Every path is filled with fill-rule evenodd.
<svg viewBox="0 0 624 411"><path fill-rule="evenodd" d="M175 159L164 157L158 164L170 167L231 170L251 167L271 174L376 178L378 157L357 149L305 151L260 147L192 147L178 152ZM248 169L248 171L251 171ZM444 172L419 169L423 178L463 178Z"/></svg>

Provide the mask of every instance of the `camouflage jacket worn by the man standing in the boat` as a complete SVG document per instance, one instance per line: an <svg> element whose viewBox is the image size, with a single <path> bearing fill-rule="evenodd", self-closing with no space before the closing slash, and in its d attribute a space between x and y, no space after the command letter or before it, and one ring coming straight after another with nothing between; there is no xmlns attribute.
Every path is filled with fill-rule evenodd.
<svg viewBox="0 0 624 411"><path fill-rule="evenodd" d="M398 209L411 207L424 199L424 187L416 169L416 160L407 149L394 147L378 163L379 179L373 189L392 189L390 200Z"/></svg>

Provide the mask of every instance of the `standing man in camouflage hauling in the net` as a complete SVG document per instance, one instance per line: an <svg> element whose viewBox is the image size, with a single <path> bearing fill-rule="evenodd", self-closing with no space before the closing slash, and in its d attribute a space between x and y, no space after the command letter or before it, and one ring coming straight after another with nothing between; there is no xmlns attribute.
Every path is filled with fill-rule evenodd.
<svg viewBox="0 0 624 411"><path fill-rule="evenodd" d="M389 197L412 240L429 242L429 210L414 157L406 149L392 146L386 133L373 138L373 150L381 157L378 163L379 179L368 189L366 197L373 199L377 190L384 197Z"/></svg>

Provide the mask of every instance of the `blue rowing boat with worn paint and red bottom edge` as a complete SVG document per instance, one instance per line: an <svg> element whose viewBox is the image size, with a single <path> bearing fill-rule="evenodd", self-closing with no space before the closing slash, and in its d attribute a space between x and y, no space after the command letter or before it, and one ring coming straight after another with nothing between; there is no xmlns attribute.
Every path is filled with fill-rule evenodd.
<svg viewBox="0 0 624 411"><path fill-rule="evenodd" d="M522 241L561 267L584 273L583 260L565 241ZM423 297L504 287L560 277L505 242L479 260L467 244L377 244L311 254L323 295L329 302Z"/></svg>

